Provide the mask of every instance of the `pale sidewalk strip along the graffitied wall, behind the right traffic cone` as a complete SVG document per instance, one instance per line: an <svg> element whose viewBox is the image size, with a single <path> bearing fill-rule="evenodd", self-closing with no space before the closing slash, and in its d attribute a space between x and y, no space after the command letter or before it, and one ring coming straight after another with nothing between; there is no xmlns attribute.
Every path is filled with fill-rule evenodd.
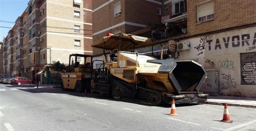
<svg viewBox="0 0 256 131"><path fill-rule="evenodd" d="M241 106L256 108L256 97L235 97L235 96L208 96L204 104L223 105L227 103L228 106Z"/></svg>

